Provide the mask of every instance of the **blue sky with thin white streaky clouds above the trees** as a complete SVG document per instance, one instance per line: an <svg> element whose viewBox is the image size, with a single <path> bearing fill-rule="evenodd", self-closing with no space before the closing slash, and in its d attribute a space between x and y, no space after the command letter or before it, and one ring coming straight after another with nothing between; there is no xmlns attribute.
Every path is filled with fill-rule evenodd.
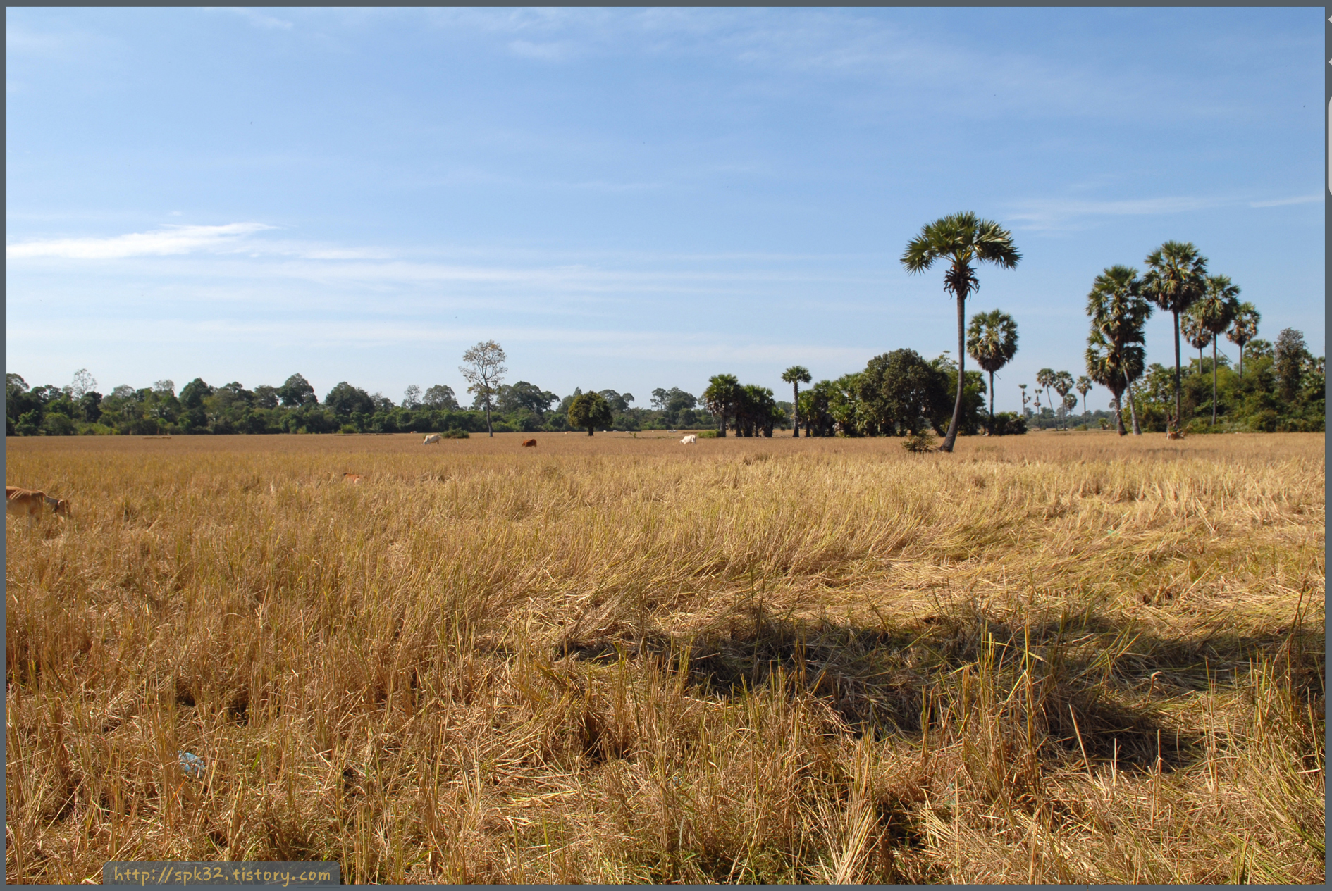
<svg viewBox="0 0 1332 891"><path fill-rule="evenodd" d="M1321 8L11 8L7 369L397 401L494 338L561 396L781 398L956 349L899 258L962 209L1023 253L968 301L1018 320L1000 410L1171 238L1321 354L1323 43Z"/></svg>

